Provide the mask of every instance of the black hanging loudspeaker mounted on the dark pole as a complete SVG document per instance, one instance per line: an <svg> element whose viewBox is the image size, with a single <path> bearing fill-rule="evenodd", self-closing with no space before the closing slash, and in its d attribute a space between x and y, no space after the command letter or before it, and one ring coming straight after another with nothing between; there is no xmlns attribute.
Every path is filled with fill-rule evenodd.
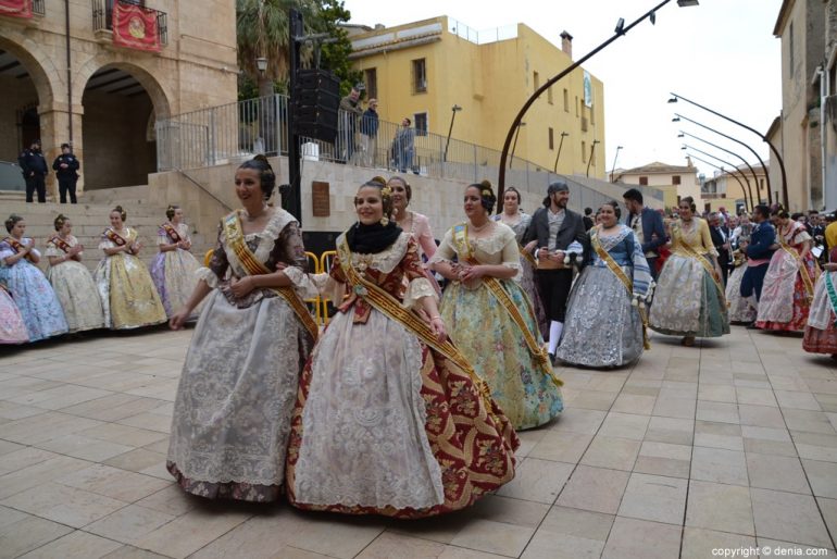
<svg viewBox="0 0 837 559"><path fill-rule="evenodd" d="M340 107L340 79L325 70L300 70L293 84L297 134L334 142Z"/></svg>

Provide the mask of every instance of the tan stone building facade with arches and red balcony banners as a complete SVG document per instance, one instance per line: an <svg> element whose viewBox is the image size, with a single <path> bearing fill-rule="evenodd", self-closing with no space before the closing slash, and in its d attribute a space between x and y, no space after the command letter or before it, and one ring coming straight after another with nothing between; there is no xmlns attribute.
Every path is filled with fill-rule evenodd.
<svg viewBox="0 0 837 559"><path fill-rule="evenodd" d="M21 3L30 17L0 11L0 162L35 138L50 162L71 142L79 190L146 184L155 119L236 100L232 0ZM132 5L155 18L158 52L115 45L112 14ZM54 195L54 175L48 187Z"/></svg>

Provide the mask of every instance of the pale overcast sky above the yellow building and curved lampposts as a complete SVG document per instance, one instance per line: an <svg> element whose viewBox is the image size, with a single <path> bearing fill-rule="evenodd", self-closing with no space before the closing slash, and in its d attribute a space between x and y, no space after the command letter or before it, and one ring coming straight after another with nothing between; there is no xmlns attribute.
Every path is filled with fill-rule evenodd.
<svg viewBox="0 0 837 559"><path fill-rule="evenodd" d="M351 11L351 23L365 25L392 26L437 15L449 15L479 30L524 23L558 46L559 35L566 29L574 37L577 60L610 38L620 17L627 25L660 1L346 0L346 8ZM782 109L780 41L773 36L780 5L782 0L700 0L697 8L678 8L672 0L658 12L657 25L646 20L585 63L604 83L608 171L616 146L623 146L619 167L652 161L685 164L682 140L676 137L680 127L732 151L744 150L742 156L749 153L740 145L688 123L672 123L675 110L739 137L767 162L769 149L753 134L687 103L667 104L666 99L675 91L765 133ZM733 159L697 140L689 145ZM751 154L746 159L755 162ZM696 164L712 175L710 165Z"/></svg>

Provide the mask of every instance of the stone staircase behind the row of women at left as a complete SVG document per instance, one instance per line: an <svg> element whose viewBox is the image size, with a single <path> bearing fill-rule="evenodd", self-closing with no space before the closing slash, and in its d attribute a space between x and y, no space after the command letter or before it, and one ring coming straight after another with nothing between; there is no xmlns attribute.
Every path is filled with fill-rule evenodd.
<svg viewBox="0 0 837 559"><path fill-rule="evenodd" d="M148 187L146 186L147 190ZM91 272L102 259L102 251L99 250L99 240L105 227L109 226L109 214L111 209L120 204L128 214L127 225L137 229L142 250L139 258L148 265L158 253L157 231L161 223L165 221L165 208L149 203L147 197L142 195L142 187L127 187L123 194L121 188L113 188L102 191L90 191L79 196L78 203L26 203L23 192L0 191L0 223L4 222L10 214L16 213L26 221L26 236L35 238L35 246L43 253L47 240L54 234L53 221L59 213L63 213L73 223L73 235L75 235L85 251L82 257L84 263ZM116 196L118 196L116 198ZM188 223L188 216L187 216ZM5 228L0 229L0 238L5 237ZM203 261L203 254L214 246L214 236L208 238L205 235L191 233L192 249L191 252L199 261ZM42 258L39 268L45 272L49 268L46 258Z"/></svg>

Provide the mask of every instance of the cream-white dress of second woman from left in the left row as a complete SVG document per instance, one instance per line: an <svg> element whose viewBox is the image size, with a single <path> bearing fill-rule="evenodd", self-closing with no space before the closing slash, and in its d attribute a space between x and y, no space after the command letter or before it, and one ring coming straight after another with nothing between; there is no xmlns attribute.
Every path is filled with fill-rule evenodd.
<svg viewBox="0 0 837 559"><path fill-rule="evenodd" d="M66 238L54 235L47 243L45 256L63 257L76 245L78 239L73 235L67 235ZM102 301L86 265L76 260L65 260L60 264L50 265L47 277L55 290L61 308L64 309L70 332L104 327Z"/></svg>

